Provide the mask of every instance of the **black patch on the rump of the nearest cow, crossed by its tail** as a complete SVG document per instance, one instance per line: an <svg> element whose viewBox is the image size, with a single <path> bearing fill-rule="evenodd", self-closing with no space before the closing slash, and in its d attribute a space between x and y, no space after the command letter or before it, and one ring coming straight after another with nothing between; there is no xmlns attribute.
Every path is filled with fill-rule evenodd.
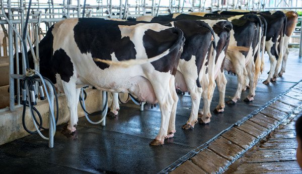
<svg viewBox="0 0 302 174"><path fill-rule="evenodd" d="M159 32L148 29L144 32L142 40L148 58L157 56L167 49L170 49L173 45L177 45L175 48L170 49L168 55L151 63L155 70L165 73L169 71L171 71L172 74L176 73L179 59L176 60L175 58L179 56L179 50L182 46L182 43L180 44L178 42L183 42L183 35L179 32L180 30L175 28L168 28Z"/></svg>

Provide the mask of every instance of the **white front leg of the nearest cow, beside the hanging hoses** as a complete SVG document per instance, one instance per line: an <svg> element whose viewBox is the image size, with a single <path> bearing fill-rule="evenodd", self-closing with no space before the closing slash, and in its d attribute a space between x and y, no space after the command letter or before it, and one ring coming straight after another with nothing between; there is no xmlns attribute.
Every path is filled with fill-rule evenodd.
<svg viewBox="0 0 302 174"><path fill-rule="evenodd" d="M81 88L76 88L74 82L64 82L62 81L62 86L67 100L67 106L70 112L70 119L68 122L67 130L63 133L71 134L75 131L75 126L78 123L78 103Z"/></svg>

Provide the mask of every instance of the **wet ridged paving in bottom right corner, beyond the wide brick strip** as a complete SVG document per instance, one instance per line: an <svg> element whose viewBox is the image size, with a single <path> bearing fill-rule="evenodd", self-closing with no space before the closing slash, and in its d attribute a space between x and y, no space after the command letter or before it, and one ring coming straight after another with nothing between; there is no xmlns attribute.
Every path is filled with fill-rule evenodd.
<svg viewBox="0 0 302 174"><path fill-rule="evenodd" d="M296 161L298 144L294 126L301 115L302 112L287 125L275 130L266 142L247 152L239 164L231 165L225 173L302 173Z"/></svg>

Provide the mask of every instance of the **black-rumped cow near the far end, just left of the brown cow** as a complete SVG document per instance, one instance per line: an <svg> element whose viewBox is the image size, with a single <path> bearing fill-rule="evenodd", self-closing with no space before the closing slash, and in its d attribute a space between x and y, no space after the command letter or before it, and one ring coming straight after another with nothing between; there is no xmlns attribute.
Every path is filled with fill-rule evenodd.
<svg viewBox="0 0 302 174"><path fill-rule="evenodd" d="M271 64L268 77L265 81L263 81L263 84L269 84L270 81L275 82L276 78L279 75L282 76L283 71L285 71L286 60L288 55L288 53L287 55L284 54L284 49L287 48L287 44L288 44L288 41L285 41L286 26L288 26L288 28L294 28L294 25L286 24L287 17L282 11L265 11L265 12L217 11L215 13L222 14L222 15L239 15L239 14L257 13L261 15L267 22L265 50L269 55L269 60ZM290 14L288 15L292 16ZM294 21L294 19L295 17L293 17L292 20ZM291 29L290 31L292 33L293 29ZM289 34L290 31L287 34ZM287 39L289 38L287 37ZM282 71L281 68L280 73L278 73L281 63L283 64L284 55L286 56L286 60L284 61L284 66L283 66L284 70Z"/></svg>

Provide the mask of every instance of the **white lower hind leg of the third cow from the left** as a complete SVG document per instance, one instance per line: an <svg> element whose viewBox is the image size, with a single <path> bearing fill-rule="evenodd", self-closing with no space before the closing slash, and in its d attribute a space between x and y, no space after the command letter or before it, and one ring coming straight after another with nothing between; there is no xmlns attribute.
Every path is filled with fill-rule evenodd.
<svg viewBox="0 0 302 174"><path fill-rule="evenodd" d="M224 111L224 97L225 97L225 86L226 86L226 78L223 72L218 72L216 78L216 84L219 91L219 103L214 109L215 113L222 113Z"/></svg>

